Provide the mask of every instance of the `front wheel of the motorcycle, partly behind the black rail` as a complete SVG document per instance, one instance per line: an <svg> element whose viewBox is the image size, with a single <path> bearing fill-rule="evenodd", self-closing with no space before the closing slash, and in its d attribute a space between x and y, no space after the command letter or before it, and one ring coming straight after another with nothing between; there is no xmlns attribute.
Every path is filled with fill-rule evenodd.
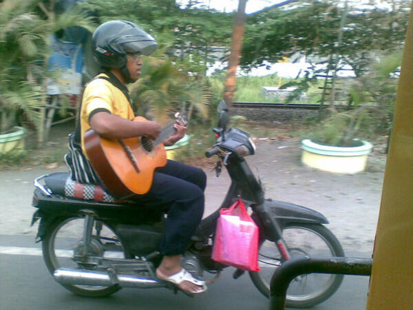
<svg viewBox="0 0 413 310"><path fill-rule="evenodd" d="M282 236L291 256L344 256L339 240L323 225L290 223L282 228ZM267 298L270 296L271 277L282 264L277 245L264 240L260 245L258 262L261 271L250 272L251 280ZM297 276L290 282L286 306L310 308L330 298L341 285L343 275L310 273Z"/></svg>

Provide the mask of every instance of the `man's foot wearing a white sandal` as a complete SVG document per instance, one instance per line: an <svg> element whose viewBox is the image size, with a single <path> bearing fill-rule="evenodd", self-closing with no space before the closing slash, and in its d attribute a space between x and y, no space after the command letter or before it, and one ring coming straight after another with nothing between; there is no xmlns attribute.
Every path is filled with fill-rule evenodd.
<svg viewBox="0 0 413 310"><path fill-rule="evenodd" d="M167 274L165 271L162 272L158 268L156 269L156 276L158 276L160 280L173 283L186 293L197 294L207 291L205 282L193 278L191 273L185 269L181 269L178 273Z"/></svg>

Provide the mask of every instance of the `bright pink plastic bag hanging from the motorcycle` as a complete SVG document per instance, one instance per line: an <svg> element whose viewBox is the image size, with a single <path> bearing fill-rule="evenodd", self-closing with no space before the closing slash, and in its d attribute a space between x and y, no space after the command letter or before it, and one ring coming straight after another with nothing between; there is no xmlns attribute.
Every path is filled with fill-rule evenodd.
<svg viewBox="0 0 413 310"><path fill-rule="evenodd" d="M248 271L258 267L258 227L238 199L227 209L220 210L212 259Z"/></svg>

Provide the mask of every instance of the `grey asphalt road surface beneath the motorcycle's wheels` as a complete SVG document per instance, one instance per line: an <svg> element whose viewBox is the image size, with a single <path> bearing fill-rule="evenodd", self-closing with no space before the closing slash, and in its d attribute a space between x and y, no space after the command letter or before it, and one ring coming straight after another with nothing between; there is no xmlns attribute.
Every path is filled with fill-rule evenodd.
<svg viewBox="0 0 413 310"><path fill-rule="evenodd" d="M32 236L0 236L0 309L268 309L268 299L255 289L248 274L232 278L233 267L225 269L206 293L194 298L168 289L121 289L108 298L76 296L54 282L40 250ZM366 253L351 255L368 257ZM365 309L367 291L368 277L346 276L335 295L313 309Z"/></svg>

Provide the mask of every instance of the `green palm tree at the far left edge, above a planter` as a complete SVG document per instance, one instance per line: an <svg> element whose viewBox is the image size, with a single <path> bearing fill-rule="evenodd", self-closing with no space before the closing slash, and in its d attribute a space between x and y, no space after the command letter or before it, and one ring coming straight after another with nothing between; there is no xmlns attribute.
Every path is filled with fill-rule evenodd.
<svg viewBox="0 0 413 310"><path fill-rule="evenodd" d="M0 3L0 132L16 123L16 112L23 110L31 121L39 120L41 92L34 83L34 61L41 39L39 17L30 13L30 1Z"/></svg>

